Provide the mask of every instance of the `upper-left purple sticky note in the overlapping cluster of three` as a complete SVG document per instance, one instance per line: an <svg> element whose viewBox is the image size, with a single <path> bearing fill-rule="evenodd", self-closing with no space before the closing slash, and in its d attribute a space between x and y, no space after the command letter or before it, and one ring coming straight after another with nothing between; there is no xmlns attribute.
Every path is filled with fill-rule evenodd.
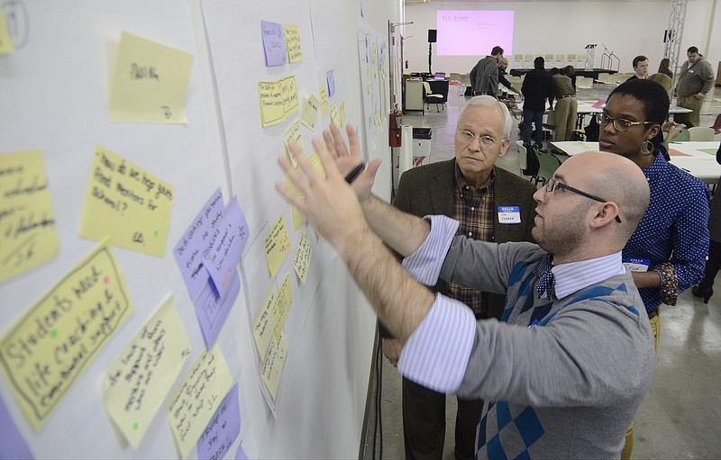
<svg viewBox="0 0 721 460"><path fill-rule="evenodd" d="M187 293L190 294L191 300L195 300L197 294L207 284L208 273L205 270L203 255L214 226L223 217L223 211L223 194L218 188L173 248L173 256L186 282Z"/></svg>

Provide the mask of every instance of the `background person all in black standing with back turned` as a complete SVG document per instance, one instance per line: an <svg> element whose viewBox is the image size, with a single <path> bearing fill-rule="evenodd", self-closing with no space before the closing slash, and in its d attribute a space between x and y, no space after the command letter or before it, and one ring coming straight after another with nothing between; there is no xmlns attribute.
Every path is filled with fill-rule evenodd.
<svg viewBox="0 0 721 460"><path fill-rule="evenodd" d="M545 59L542 56L534 59L534 69L525 74L521 91L524 100L524 143L531 145L531 123L535 127L535 149L543 149L543 113L546 110L546 99L553 97L551 87L551 74L543 66Z"/></svg>

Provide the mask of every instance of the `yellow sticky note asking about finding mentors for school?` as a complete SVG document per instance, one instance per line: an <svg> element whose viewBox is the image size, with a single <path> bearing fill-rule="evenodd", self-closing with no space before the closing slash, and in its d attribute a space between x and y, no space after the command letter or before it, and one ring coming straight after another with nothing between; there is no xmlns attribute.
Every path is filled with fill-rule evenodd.
<svg viewBox="0 0 721 460"><path fill-rule="evenodd" d="M80 236L110 236L114 246L164 257L174 194L172 185L98 145Z"/></svg>

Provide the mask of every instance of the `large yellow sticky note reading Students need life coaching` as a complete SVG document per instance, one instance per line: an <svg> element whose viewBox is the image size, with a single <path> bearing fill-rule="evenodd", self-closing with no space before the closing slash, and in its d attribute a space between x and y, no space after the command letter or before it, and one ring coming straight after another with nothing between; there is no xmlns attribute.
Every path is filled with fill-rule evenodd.
<svg viewBox="0 0 721 460"><path fill-rule="evenodd" d="M32 428L41 428L133 308L104 241L5 334L0 342L5 382Z"/></svg>

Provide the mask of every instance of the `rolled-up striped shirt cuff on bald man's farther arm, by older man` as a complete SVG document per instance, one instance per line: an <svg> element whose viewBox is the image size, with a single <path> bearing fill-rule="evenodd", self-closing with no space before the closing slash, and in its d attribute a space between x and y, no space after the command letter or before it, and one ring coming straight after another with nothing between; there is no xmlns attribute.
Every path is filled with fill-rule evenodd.
<svg viewBox="0 0 721 460"><path fill-rule="evenodd" d="M459 222L446 216L425 216L424 219L431 221L431 231L420 248L403 259L403 267L418 283L432 286L438 283Z"/></svg>

